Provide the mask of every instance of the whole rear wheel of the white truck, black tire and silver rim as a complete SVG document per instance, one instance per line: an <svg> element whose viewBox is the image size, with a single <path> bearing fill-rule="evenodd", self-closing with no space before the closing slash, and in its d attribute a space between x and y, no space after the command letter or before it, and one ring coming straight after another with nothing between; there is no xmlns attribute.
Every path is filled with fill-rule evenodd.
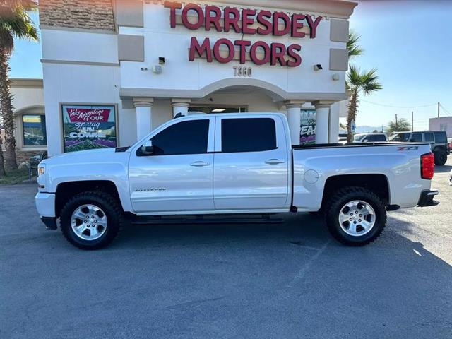
<svg viewBox="0 0 452 339"><path fill-rule="evenodd" d="M325 221L333 237L349 246L364 246L386 226L383 201L362 187L338 189L326 202Z"/></svg>

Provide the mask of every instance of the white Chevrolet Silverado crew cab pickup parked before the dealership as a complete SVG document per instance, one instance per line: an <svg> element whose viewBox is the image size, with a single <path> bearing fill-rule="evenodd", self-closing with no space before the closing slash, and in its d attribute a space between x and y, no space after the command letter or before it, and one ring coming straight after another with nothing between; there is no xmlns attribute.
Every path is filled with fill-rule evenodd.
<svg viewBox="0 0 452 339"><path fill-rule="evenodd" d="M379 237L386 210L435 205L433 174L428 144L292 146L284 114L198 114L129 148L43 160L36 207L83 249L106 246L128 220L318 211L335 239L359 246Z"/></svg>

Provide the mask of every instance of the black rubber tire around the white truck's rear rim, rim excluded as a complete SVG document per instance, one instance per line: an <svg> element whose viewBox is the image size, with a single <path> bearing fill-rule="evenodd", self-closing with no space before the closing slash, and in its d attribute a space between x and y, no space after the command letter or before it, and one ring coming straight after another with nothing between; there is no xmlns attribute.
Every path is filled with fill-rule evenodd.
<svg viewBox="0 0 452 339"><path fill-rule="evenodd" d="M375 223L366 234L364 234L363 229L363 235L353 236L347 234L345 230L343 230L338 218L341 210L343 210L343 207L347 203L357 200L368 203L371 208L374 209ZM335 193L331 195L331 198L328 198L328 201L326 201L324 216L328 230L334 239L348 246L364 246L374 242L386 226L386 207L383 201L381 201L379 196L374 194L374 192L369 191L369 189L364 189L363 187L350 186L335 191Z"/></svg>

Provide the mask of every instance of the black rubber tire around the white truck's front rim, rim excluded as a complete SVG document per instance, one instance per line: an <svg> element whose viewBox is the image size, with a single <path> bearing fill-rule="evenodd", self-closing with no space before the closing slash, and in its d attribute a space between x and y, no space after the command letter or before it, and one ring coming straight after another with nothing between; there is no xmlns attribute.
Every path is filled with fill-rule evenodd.
<svg viewBox="0 0 452 339"><path fill-rule="evenodd" d="M71 226L72 213L85 204L99 207L107 217L107 227L102 236L93 240L79 237ZM80 249L101 249L110 244L124 225L124 213L116 198L101 191L87 191L73 196L60 213L60 227L67 241ZM103 227L102 227L103 230Z"/></svg>

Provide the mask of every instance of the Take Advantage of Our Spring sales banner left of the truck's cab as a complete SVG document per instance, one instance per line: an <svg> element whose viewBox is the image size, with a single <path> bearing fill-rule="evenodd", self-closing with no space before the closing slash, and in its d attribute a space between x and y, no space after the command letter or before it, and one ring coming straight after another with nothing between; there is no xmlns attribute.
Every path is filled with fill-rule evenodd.
<svg viewBox="0 0 452 339"><path fill-rule="evenodd" d="M64 152L117 147L114 106L63 105Z"/></svg>

